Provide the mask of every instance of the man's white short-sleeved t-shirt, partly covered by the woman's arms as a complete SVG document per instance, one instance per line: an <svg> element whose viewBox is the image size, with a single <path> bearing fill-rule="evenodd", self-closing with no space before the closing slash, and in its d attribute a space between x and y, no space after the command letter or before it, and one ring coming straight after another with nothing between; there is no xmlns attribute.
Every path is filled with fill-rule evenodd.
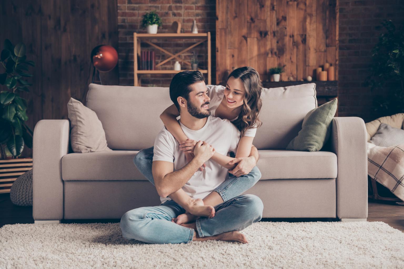
<svg viewBox="0 0 404 269"><path fill-rule="evenodd" d="M230 151L236 153L240 131L229 120L209 116L204 127L197 131L185 127L181 122L179 123L189 139L206 141L215 148L216 152L223 155L227 155L227 152ZM153 161L174 163L174 171L187 164L185 153L179 149L179 143L165 126L154 141ZM204 170L196 171L182 187L192 198L205 198L228 177L229 170L215 161L208 160L205 164ZM160 197L160 200L164 203L171 199Z"/></svg>

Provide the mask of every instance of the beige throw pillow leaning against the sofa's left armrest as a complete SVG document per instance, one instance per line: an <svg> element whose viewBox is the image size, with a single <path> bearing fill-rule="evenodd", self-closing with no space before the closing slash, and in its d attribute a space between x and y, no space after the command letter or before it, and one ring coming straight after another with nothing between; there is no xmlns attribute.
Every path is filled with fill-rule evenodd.
<svg viewBox="0 0 404 269"><path fill-rule="evenodd" d="M70 144L76 153L111 151L97 114L80 101L70 98L67 103L70 120Z"/></svg>

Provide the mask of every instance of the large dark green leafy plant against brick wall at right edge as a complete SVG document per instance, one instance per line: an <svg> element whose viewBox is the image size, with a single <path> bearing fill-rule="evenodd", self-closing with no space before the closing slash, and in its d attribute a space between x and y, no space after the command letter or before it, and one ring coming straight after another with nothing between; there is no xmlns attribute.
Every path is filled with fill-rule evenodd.
<svg viewBox="0 0 404 269"><path fill-rule="evenodd" d="M394 23L383 20L385 32L372 50L370 75L365 86L389 90L386 97L374 100L375 111L381 115L404 112L404 29L396 29Z"/></svg>

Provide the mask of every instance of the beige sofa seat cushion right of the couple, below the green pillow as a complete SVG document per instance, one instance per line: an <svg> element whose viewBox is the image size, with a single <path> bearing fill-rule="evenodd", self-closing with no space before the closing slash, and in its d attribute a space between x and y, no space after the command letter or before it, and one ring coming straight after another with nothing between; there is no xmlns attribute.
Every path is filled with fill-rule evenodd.
<svg viewBox="0 0 404 269"><path fill-rule="evenodd" d="M336 178L337 155L328 151L258 150L262 179Z"/></svg>

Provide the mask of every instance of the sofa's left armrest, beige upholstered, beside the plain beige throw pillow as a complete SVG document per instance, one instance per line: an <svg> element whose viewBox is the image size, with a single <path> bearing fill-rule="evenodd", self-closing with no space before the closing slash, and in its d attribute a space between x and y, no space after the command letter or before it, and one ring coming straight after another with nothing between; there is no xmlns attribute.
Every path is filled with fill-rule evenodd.
<svg viewBox="0 0 404 269"><path fill-rule="evenodd" d="M32 216L63 219L62 157L69 151L69 121L41 120L35 125L32 154Z"/></svg>

